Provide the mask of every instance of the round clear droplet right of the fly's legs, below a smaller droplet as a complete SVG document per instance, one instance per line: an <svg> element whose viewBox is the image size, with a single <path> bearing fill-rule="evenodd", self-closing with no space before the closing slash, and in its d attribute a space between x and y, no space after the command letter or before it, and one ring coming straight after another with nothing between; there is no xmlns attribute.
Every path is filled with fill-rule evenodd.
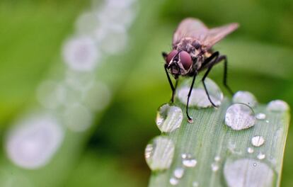
<svg viewBox="0 0 293 187"><path fill-rule="evenodd" d="M227 109L225 123L233 130L251 128L255 124L254 112L246 104L235 103Z"/></svg>

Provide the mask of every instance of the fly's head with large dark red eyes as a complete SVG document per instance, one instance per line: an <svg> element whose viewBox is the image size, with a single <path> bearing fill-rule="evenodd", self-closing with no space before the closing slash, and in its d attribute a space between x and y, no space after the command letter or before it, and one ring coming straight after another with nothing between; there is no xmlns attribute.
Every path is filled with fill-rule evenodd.
<svg viewBox="0 0 293 187"><path fill-rule="evenodd" d="M190 57L190 54L184 50L172 50L166 56L166 64L168 69L173 74L173 77L177 79L180 75L185 75L190 72L191 67L193 66L193 60Z"/></svg>

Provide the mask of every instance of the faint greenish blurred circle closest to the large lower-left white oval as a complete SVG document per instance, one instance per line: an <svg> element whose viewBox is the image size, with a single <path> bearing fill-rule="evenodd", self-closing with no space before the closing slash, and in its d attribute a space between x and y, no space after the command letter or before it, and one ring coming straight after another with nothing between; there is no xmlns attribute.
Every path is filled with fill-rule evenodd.
<svg viewBox="0 0 293 187"><path fill-rule="evenodd" d="M72 131L83 132L91 127L93 116L88 108L79 103L67 106L64 111L64 125Z"/></svg>

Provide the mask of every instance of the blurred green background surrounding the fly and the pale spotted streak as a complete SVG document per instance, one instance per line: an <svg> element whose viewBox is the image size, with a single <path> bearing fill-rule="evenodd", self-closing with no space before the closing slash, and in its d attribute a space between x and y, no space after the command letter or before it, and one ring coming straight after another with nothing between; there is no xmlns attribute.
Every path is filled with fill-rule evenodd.
<svg viewBox="0 0 293 187"><path fill-rule="evenodd" d="M171 50L173 31L188 16L209 27L240 23L239 30L214 47L229 59L231 88L251 91L260 103L278 98L293 106L292 0L141 0L137 4L129 49L106 59L109 63L97 71L113 89L110 106L97 114L90 132L67 134L69 139L53 157L55 164L40 171L42 175L14 168L13 175L19 172L45 186L147 186L150 171L144 147L159 135L156 109L171 96L161 52ZM35 103L40 82L59 74L54 67L61 63L62 43L74 33L79 14L91 6L89 0L0 1L2 137L13 120ZM113 70L107 67L110 62L119 63ZM222 64L217 65L209 76L220 86L222 69ZM289 128L282 186L293 186L292 135ZM68 147L74 154L62 156ZM1 154L0 169L11 167L4 149Z"/></svg>

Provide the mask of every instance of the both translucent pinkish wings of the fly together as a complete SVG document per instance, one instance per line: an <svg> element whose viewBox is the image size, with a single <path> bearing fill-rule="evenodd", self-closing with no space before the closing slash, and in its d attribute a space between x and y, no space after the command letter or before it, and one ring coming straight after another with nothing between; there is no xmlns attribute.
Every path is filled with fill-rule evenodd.
<svg viewBox="0 0 293 187"><path fill-rule="evenodd" d="M238 23L230 23L226 26L209 29L202 21L196 18L185 18L179 24L173 36L173 45L182 38L193 38L206 50L222 40L226 35L239 27Z"/></svg>

